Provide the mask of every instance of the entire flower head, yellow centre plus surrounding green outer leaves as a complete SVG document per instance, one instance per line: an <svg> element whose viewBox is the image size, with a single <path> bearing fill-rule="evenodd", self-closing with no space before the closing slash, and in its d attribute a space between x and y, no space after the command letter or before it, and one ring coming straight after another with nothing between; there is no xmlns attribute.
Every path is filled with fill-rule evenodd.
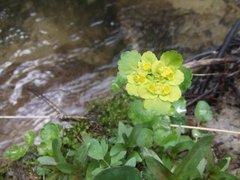
<svg viewBox="0 0 240 180"><path fill-rule="evenodd" d="M191 84L191 71L182 63L182 56L173 50L163 53L160 60L151 51L142 55L127 51L118 62L115 83L126 84L128 94L142 99L145 109L170 115Z"/></svg>

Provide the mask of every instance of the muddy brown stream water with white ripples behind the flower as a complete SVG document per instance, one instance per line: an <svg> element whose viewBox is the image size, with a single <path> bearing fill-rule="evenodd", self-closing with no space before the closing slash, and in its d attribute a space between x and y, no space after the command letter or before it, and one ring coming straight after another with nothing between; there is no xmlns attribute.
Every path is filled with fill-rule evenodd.
<svg viewBox="0 0 240 180"><path fill-rule="evenodd" d="M57 115L28 86L84 113L109 93L120 52L177 49L187 59L219 46L239 16L233 0L0 0L0 115ZM49 120L1 119L0 151Z"/></svg>

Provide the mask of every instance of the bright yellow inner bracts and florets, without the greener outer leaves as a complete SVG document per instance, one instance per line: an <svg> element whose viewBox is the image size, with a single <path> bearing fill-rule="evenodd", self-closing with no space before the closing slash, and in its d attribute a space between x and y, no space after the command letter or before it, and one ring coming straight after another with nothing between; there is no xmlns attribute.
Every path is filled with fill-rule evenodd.
<svg viewBox="0 0 240 180"><path fill-rule="evenodd" d="M159 61L150 51L143 53L136 70L127 76L127 92L144 100L158 99L168 103L179 100L182 95L179 85L184 75L180 66L168 63Z"/></svg>

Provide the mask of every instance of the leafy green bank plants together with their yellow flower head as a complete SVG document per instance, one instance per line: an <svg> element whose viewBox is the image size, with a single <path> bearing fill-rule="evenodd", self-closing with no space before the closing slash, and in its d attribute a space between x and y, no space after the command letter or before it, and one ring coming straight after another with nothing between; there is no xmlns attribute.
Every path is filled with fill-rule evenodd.
<svg viewBox="0 0 240 180"><path fill-rule="evenodd" d="M41 142L36 145L38 175L48 179L94 180L237 179L226 172L230 158L215 158L211 134L188 132L180 126L187 123L182 94L192 79L191 70L182 63L182 56L176 51L163 53L160 60L150 51L142 55L137 51L124 52L112 83L114 91L125 89L131 96L124 108L128 112L120 116L124 119L113 125L103 118L104 128L113 128L110 136L92 135L81 126L77 141L67 139L74 142L71 146L65 143L64 128L47 123L40 131ZM110 117L117 119L111 113ZM205 101L198 102L194 114L199 124L212 119L211 108ZM172 123L179 127L171 128ZM5 157L12 160L25 154L12 158L14 149L6 152Z"/></svg>

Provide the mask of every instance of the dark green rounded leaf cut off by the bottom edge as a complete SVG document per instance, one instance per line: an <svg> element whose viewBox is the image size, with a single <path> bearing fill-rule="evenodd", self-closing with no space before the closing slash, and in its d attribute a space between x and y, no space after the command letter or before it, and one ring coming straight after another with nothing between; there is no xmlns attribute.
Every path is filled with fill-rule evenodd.
<svg viewBox="0 0 240 180"><path fill-rule="evenodd" d="M137 169L130 166L113 167L100 172L94 180L141 180Z"/></svg>

